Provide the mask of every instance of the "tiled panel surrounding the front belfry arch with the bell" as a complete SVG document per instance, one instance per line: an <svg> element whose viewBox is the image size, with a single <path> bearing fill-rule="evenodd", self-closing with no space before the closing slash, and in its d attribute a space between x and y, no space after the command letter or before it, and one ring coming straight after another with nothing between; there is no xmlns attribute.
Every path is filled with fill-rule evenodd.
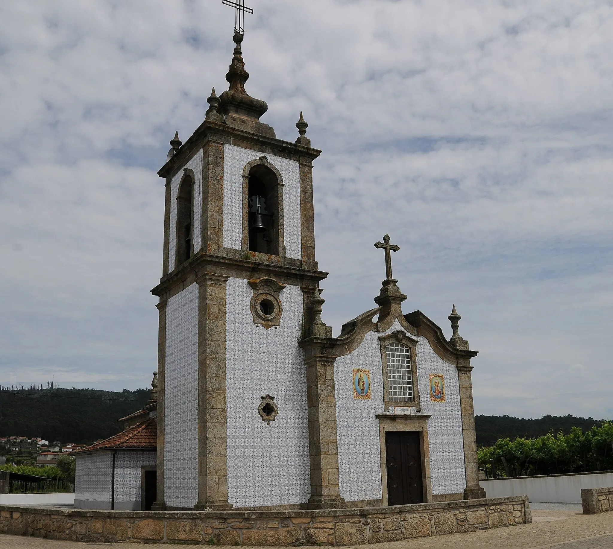
<svg viewBox="0 0 613 549"><path fill-rule="evenodd" d="M224 145L224 246L241 249L243 237L243 170L262 153L234 145ZM268 162L283 177L283 232L286 257L302 259L300 229L300 165L267 154Z"/></svg>

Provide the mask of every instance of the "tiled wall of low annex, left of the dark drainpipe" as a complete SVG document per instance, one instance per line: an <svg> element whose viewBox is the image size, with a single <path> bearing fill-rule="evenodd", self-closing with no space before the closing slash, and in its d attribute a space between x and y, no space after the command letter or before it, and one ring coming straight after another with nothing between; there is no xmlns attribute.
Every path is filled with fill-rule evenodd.
<svg viewBox="0 0 613 549"><path fill-rule="evenodd" d="M111 471L111 452L78 455L75 471L75 499L111 501Z"/></svg>

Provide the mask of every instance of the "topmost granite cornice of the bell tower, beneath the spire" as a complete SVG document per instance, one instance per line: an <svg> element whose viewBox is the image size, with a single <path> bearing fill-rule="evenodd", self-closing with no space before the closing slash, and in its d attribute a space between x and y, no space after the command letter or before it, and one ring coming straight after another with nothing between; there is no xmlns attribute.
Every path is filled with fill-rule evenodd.
<svg viewBox="0 0 613 549"><path fill-rule="evenodd" d="M283 139L254 134L242 129L226 126L226 124L205 120L197 127L196 131L194 131L188 140L181 145L177 154L172 156L170 160L160 168L158 175L164 178L169 177L171 173L176 172L178 168L182 167L182 164L186 162L186 158L190 156L194 149L197 150L200 147L204 147L208 141L226 143L227 145L237 145L235 140L243 143L251 143L251 145L256 146L263 154L268 153L276 154L277 156L287 156L291 160L302 163L304 163L303 159L305 158L312 162L321 154L320 150L300 145L299 143L292 143L290 141L284 141Z"/></svg>

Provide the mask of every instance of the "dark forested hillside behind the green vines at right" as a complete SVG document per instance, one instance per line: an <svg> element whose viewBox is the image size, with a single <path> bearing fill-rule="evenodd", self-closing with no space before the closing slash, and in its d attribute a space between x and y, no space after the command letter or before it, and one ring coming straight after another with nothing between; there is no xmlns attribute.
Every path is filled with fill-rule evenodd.
<svg viewBox="0 0 613 549"><path fill-rule="evenodd" d="M477 444L491 446L498 439L511 439L517 437L536 439L551 432L557 435L560 431L570 433L573 427L578 427L584 433L592 426L603 425L602 420L591 417L574 417L574 415L544 415L539 419L522 419L508 415L476 415L474 425L477 431Z"/></svg>

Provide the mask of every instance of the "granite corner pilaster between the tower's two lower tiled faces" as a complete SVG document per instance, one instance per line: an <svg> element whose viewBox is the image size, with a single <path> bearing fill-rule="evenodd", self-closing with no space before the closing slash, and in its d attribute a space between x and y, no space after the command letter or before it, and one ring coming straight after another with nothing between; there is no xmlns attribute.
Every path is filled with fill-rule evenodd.
<svg viewBox="0 0 613 549"><path fill-rule="evenodd" d="M195 509L226 509L226 281L204 273L198 324L198 502Z"/></svg>

